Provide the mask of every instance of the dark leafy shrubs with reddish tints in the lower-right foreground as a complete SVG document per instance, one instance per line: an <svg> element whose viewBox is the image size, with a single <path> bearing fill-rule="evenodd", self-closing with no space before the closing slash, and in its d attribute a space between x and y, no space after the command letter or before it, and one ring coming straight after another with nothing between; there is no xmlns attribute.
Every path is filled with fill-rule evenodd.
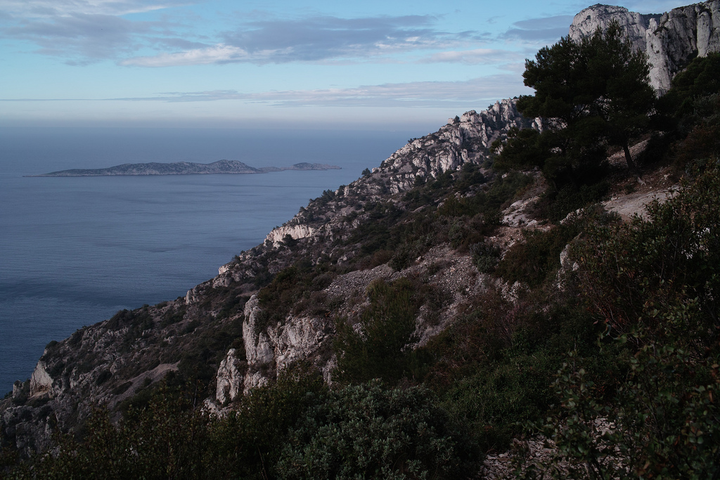
<svg viewBox="0 0 720 480"><path fill-rule="evenodd" d="M573 352L545 426L572 472L592 478L706 479L720 474L720 168L649 220L595 227L576 248L580 280L626 376L611 395ZM611 422L598 432L598 418Z"/></svg>

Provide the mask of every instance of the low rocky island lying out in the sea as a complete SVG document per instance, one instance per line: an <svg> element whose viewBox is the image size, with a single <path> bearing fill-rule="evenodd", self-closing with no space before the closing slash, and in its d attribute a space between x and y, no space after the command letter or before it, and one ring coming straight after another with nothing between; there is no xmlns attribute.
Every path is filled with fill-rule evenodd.
<svg viewBox="0 0 720 480"><path fill-rule="evenodd" d="M268 173L284 170L340 170L335 165L325 163L295 163L289 167L255 168L238 160L218 160L212 163L123 163L109 168L73 168L42 175L26 176L111 176L111 175L209 175L212 173Z"/></svg>

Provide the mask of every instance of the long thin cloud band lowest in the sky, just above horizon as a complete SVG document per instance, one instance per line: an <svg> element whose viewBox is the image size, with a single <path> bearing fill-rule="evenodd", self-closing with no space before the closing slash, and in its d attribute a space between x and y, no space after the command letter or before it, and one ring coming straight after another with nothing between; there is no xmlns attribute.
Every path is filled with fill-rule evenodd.
<svg viewBox="0 0 720 480"><path fill-rule="evenodd" d="M270 107L453 107L485 104L529 89L521 77L501 74L468 81L384 83L351 89L318 89L243 93L236 90L165 92L156 96L88 101L228 101L267 104ZM70 101L71 99L0 99L0 101ZM78 101L82 99L72 99Z"/></svg>

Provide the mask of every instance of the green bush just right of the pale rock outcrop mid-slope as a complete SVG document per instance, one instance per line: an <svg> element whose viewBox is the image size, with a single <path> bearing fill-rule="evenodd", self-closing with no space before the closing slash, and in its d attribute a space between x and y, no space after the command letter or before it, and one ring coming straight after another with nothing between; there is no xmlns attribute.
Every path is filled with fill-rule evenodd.
<svg viewBox="0 0 720 480"><path fill-rule="evenodd" d="M360 331L343 319L337 322L338 367L333 378L354 384L370 379L395 383L407 373L410 358L405 347L415 341L420 301L405 278L392 284L375 280L367 294L370 306L361 315Z"/></svg>

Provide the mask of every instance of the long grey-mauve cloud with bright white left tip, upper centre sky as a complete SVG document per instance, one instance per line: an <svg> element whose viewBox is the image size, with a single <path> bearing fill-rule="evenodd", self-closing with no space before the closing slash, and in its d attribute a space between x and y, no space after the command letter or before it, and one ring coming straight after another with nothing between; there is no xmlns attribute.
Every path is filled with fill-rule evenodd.
<svg viewBox="0 0 720 480"><path fill-rule="evenodd" d="M295 61L361 60L388 57L410 50L437 50L477 42L484 35L441 32L435 17L309 17L246 22L223 41L174 53L128 58L123 65L171 66L207 63L288 63Z"/></svg>

